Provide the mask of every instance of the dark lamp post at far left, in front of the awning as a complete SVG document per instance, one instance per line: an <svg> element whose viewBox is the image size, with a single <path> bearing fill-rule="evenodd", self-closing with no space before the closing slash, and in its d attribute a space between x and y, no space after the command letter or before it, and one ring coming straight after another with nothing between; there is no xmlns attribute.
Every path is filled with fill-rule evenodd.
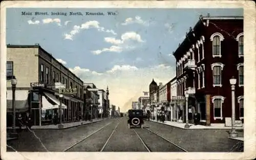
<svg viewBox="0 0 256 160"><path fill-rule="evenodd" d="M13 78L11 79L11 84L12 84L12 136L16 137L17 136L17 132L15 129L15 121L16 121L16 112L15 112L15 90L16 90L16 84L17 84L17 79L15 78L15 76L13 76Z"/></svg>

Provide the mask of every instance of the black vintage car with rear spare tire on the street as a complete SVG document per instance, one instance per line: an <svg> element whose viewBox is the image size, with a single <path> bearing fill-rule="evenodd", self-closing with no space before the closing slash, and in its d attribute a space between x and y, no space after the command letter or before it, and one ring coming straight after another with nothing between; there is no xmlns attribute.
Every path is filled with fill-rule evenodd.
<svg viewBox="0 0 256 160"><path fill-rule="evenodd" d="M142 109L130 109L128 111L129 120L128 122L128 128L131 128L131 126L140 126L140 128L143 128L143 110Z"/></svg>

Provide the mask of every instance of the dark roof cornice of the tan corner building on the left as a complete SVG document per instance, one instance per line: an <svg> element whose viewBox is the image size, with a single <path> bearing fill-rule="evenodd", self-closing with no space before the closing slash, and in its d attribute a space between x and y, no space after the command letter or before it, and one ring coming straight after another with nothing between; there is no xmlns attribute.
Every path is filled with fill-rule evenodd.
<svg viewBox="0 0 256 160"><path fill-rule="evenodd" d="M64 67L65 69L67 69L73 76L75 76L76 78L78 78L82 83L83 83L83 80L81 80L79 77L77 77L73 72L71 72L69 70L69 68L67 68L65 65L63 65L62 63L60 63L55 57L53 57L53 55L49 52L47 52L45 49L43 49L39 44L36 45L18 45L18 44L6 44L6 47L7 48L38 48L44 52L46 52L51 58L53 58L54 60L57 61L57 63L59 63L61 65L61 67Z"/></svg>

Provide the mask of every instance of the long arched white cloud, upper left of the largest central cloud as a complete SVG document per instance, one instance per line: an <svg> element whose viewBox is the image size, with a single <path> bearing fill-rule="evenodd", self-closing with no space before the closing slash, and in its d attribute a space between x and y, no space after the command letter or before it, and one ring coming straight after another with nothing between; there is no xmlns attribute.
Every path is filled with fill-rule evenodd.
<svg viewBox="0 0 256 160"><path fill-rule="evenodd" d="M79 33L81 30L88 30L88 29L91 29L91 28L95 28L95 29L97 29L97 30L100 31L100 32L112 33L112 34L114 34L114 35L117 34L117 33L115 33L115 31L113 31L113 30L105 30L104 27L100 27L98 21L96 21L96 20L90 20L90 21L87 21L87 22L81 24L81 26L75 25L75 26L73 27L73 30L70 31L69 34L65 34L65 39L73 40L73 36L74 36L75 34Z"/></svg>

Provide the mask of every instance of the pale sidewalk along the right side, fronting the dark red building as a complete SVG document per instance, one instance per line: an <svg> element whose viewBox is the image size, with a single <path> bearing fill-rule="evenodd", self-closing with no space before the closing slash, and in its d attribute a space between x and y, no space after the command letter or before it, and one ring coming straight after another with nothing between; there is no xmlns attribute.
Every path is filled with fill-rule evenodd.
<svg viewBox="0 0 256 160"><path fill-rule="evenodd" d="M151 120L151 121L157 122L156 120ZM211 126L188 124L190 127L184 128L185 123L181 123L181 122L165 121L163 123L163 122L158 121L157 123L162 123L165 125L174 126L174 127L178 127L178 128L182 128L182 129L231 129L231 127L226 127L226 126L224 126L224 124L211 124ZM235 127L235 128L240 129L240 130L244 129L244 127Z"/></svg>

